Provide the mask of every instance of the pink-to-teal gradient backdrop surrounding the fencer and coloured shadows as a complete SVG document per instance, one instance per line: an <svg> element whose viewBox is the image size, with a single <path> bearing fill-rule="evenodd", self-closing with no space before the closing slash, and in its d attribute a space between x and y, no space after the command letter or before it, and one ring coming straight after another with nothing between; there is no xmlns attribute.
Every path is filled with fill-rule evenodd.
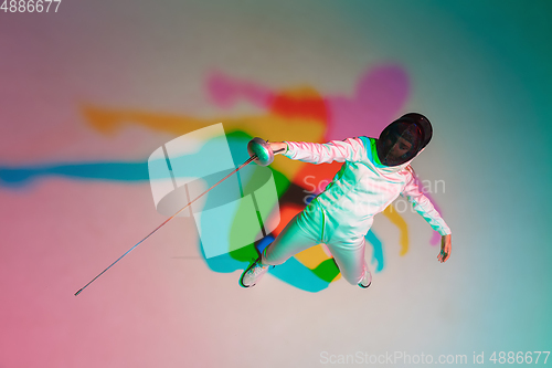
<svg viewBox="0 0 552 368"><path fill-rule="evenodd" d="M552 350L551 15L549 1L502 0L65 0L57 13L0 12L0 367ZM368 83L384 96L374 114L347 108L362 76L388 66L399 87ZM385 267L370 290L337 280L308 292L272 275L244 290L241 270L213 272L193 222L177 219L73 296L166 219L131 164L198 125L132 124L140 114L225 126L267 115L263 101L216 97L216 75L341 106L315 140L426 114L434 140L414 168L446 182L433 198L450 260L436 261L431 228L411 212L401 256L397 228L379 215ZM103 122L127 112L128 124L103 129L91 111ZM258 118L250 135L312 140L283 120Z"/></svg>

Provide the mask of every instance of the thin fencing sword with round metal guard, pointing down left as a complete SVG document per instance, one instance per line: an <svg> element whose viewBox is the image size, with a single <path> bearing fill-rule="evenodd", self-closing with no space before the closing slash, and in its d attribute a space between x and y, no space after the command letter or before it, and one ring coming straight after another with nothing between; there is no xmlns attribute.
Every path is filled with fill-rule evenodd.
<svg viewBox="0 0 552 368"><path fill-rule="evenodd" d="M157 227L156 230L153 230L152 232L150 232L146 238L144 238L142 240L140 240L138 243L136 243L136 245L134 245L128 251L126 251L125 254L123 254L121 256L119 256L117 259L117 261L115 261L114 263L112 263L107 269L105 269L104 271L102 271L100 273L98 273L96 277L92 278L86 285L84 285L83 287L81 287L78 290L78 292L75 293L75 296L77 296L78 294L81 294L83 292L83 290L85 290L89 284L92 284L94 281L96 281L99 276L102 276L107 270L109 270L110 267L113 267L117 262L119 262L120 260L123 260L123 257L125 255L127 255L128 253L130 253L136 246L140 245L140 243L142 243L146 239L148 239L149 236L151 236L155 232L157 232L159 229L161 229L167 222L169 222L170 220L172 220L173 218L176 218L180 212L182 212L188 207L190 207L193 202L195 202L198 199L200 199L201 197L203 197L204 194L206 194L214 187L219 186L221 182L223 182L224 180L226 180L227 178L230 178L232 175L234 175L237 171L240 171L243 167L247 166L252 161L255 161L257 165L261 165L261 166L270 165L274 161L274 154L280 153L283 150L284 150L284 148L278 149L277 151L273 151L273 149L270 148L270 145L268 145L268 141L265 141L264 139L258 138L258 137L253 138L252 140L250 140L250 143L247 144L247 153L250 154L251 157L245 162L243 162L235 170L233 170L232 172L230 172L229 175L226 175L224 178L222 178L221 180L219 180L217 182L215 182L211 188L209 188L208 190L205 190L204 192L202 192L201 194L199 194L198 197L195 197L191 202L189 202L188 204L185 204L180 211L178 211L177 213L174 213L173 215L171 215L170 218L168 218L163 223L161 223L159 227Z"/></svg>

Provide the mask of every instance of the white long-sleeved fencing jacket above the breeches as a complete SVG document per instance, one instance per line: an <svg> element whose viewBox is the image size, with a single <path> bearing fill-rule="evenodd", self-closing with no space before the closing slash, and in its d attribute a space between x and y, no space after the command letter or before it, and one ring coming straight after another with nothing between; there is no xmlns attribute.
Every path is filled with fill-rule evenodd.
<svg viewBox="0 0 552 368"><path fill-rule="evenodd" d="M333 180L312 201L325 214L322 241L358 243L370 230L373 217L400 194L442 235L450 233L440 214L420 190L411 161L389 167L380 162L375 139L368 137L327 144L286 141L284 156L310 164L344 162ZM316 204L316 203L315 203Z"/></svg>

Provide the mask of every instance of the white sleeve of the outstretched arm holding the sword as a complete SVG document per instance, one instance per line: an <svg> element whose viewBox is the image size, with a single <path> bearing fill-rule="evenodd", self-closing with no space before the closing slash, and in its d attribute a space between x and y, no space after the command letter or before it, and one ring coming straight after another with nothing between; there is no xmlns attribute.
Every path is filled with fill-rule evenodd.
<svg viewBox="0 0 552 368"><path fill-rule="evenodd" d="M331 140L326 144L286 141L287 158L310 164L330 164L333 161L362 161L367 159L367 147L370 141L367 137Z"/></svg>

